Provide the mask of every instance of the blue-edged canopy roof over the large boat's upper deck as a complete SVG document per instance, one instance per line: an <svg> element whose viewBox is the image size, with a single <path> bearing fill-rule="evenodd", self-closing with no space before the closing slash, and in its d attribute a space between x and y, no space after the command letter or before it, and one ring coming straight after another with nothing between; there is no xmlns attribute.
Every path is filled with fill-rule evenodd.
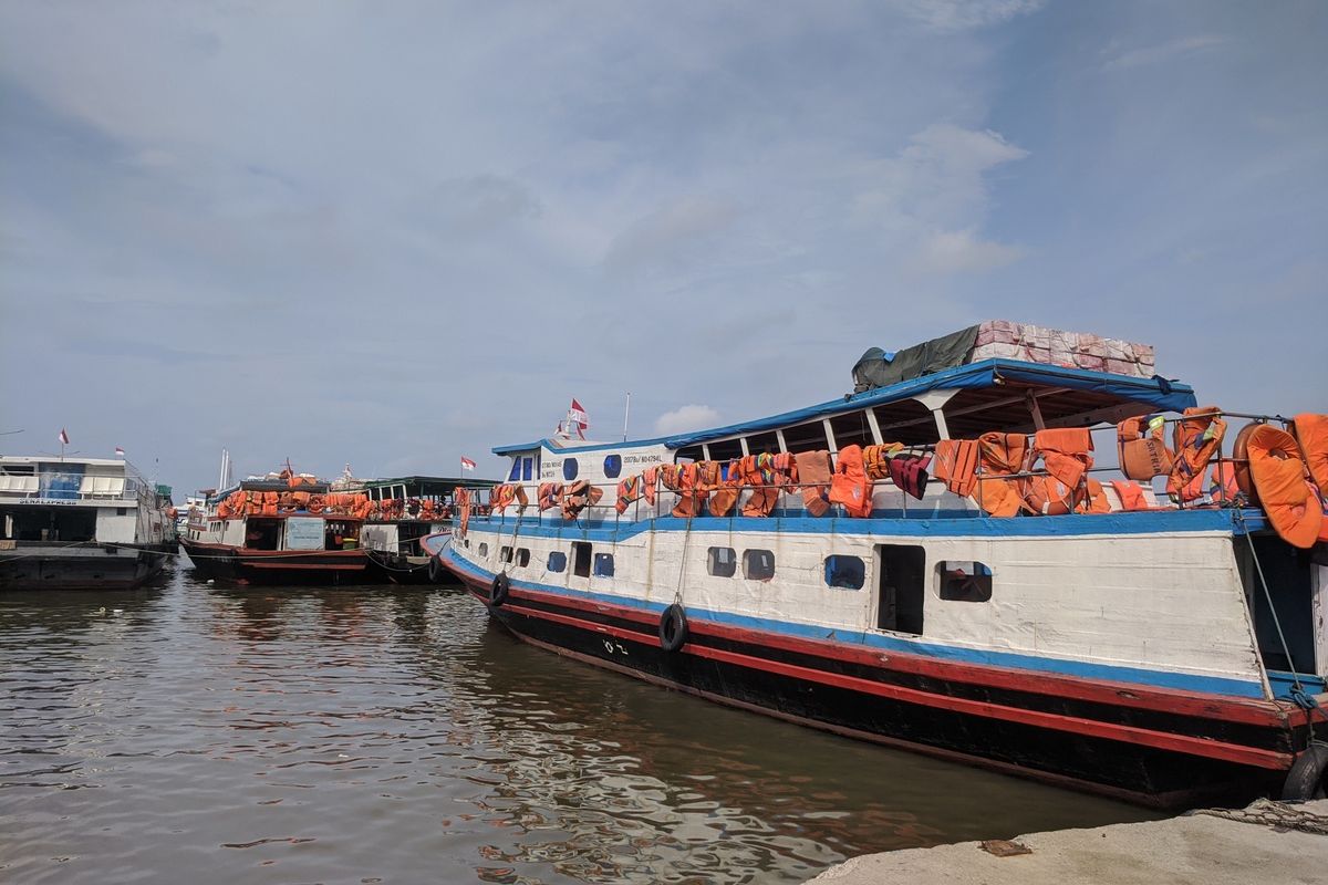
<svg viewBox="0 0 1328 885"><path fill-rule="evenodd" d="M883 387L847 394L805 409L785 411L724 427L699 430L671 437L619 443L540 439L515 446L498 446L497 455L547 448L550 451L587 451L595 448L631 448L665 446L684 448L712 441L773 434L798 425L831 419L833 423L859 425L858 415L867 409L887 439L904 443L935 442L932 411L919 399L928 394L948 394L943 414L952 438L973 439L987 431L1016 433L1035 426L1033 407L1048 427L1084 427L1114 422L1150 411L1181 411L1198 405L1194 390L1179 381L1159 375L1134 375L1093 372L1070 366L992 358L969 365L942 369L934 374L910 378ZM835 427L837 433L839 427ZM819 430L817 431L819 433Z"/></svg>

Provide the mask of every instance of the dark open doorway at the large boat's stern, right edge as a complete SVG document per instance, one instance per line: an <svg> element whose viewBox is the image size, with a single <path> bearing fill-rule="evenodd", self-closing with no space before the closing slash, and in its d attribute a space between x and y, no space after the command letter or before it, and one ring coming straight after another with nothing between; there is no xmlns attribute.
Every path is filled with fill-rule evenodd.
<svg viewBox="0 0 1328 885"><path fill-rule="evenodd" d="M1272 533L1252 540L1254 552L1248 540L1235 539L1236 564L1254 614L1259 657L1274 691L1279 690L1279 682L1289 683L1291 674L1316 678L1313 690L1321 691L1328 675L1328 637L1323 625L1328 608L1328 557L1320 552L1321 561L1315 561L1315 551L1296 549Z"/></svg>

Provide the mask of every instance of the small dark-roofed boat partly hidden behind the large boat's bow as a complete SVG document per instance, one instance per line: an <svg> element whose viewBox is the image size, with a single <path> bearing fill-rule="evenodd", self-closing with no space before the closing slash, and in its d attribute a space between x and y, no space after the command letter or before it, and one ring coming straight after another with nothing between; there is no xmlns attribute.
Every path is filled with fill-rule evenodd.
<svg viewBox="0 0 1328 885"><path fill-rule="evenodd" d="M493 482L452 476L365 480L363 490L369 496L371 512L360 529L360 544L385 581L452 581L452 572L440 565L436 551L422 547L421 540L450 536L457 488L491 486Z"/></svg>

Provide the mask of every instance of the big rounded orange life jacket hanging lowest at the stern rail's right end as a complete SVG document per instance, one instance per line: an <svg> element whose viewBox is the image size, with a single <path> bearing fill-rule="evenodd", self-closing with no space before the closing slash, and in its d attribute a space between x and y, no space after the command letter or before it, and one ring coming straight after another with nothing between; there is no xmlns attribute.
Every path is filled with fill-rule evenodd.
<svg viewBox="0 0 1328 885"><path fill-rule="evenodd" d="M1309 549L1323 528L1323 504L1305 480L1305 462L1296 439L1284 430L1260 425L1247 444L1250 475L1259 490L1259 503L1284 541Z"/></svg>

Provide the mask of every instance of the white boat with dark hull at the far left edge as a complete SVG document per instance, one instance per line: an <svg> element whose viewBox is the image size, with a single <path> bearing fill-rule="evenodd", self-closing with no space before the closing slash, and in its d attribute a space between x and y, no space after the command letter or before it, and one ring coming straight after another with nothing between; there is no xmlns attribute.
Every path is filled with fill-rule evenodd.
<svg viewBox="0 0 1328 885"><path fill-rule="evenodd" d="M0 590L135 588L174 544L170 488L124 459L0 456Z"/></svg>

